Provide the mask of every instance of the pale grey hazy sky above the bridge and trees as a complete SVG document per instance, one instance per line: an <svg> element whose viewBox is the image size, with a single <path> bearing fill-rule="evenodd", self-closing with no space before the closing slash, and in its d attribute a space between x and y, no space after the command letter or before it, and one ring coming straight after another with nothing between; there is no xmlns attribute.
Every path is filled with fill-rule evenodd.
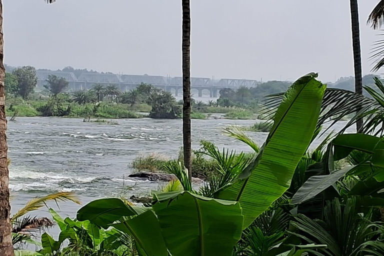
<svg viewBox="0 0 384 256"><path fill-rule="evenodd" d="M363 74L377 0L360 0ZM181 75L180 0L3 0L5 63ZM191 0L191 74L323 81L353 74L349 0Z"/></svg>

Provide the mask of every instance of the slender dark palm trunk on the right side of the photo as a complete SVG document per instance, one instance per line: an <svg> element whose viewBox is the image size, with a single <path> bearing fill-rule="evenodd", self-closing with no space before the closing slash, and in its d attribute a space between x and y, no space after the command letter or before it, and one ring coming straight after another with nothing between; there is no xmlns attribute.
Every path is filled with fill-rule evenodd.
<svg viewBox="0 0 384 256"><path fill-rule="evenodd" d="M361 75L361 50L360 50L360 26L358 21L358 4L357 0L350 0L350 18L352 26L352 45L353 45L353 62L354 62L354 90L356 93L362 94L362 75ZM361 106L357 106L357 112ZM362 128L363 120L358 119L356 122L357 132Z"/></svg>

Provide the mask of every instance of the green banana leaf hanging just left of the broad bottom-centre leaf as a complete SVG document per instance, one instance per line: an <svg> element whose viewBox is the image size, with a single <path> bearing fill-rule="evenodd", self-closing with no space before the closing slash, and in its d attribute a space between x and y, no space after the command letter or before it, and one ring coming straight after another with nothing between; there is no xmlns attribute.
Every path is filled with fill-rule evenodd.
<svg viewBox="0 0 384 256"><path fill-rule="evenodd" d="M140 255L168 255L158 220L151 210L112 226L134 237Z"/></svg>

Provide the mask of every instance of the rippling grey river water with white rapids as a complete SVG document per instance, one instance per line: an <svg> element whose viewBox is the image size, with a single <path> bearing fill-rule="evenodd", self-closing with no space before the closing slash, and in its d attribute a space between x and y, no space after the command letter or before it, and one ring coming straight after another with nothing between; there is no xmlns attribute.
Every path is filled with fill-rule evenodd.
<svg viewBox="0 0 384 256"><path fill-rule="evenodd" d="M148 195L157 182L127 177L138 155L157 153L176 158L182 145L181 120L119 119L118 125L83 122L77 118L17 117L8 123L9 188L12 212L35 196L74 191L83 203L125 194ZM192 120L192 147L200 140L236 151L251 151L242 142L223 134L229 125L249 126L255 120ZM340 129L345 122L337 123ZM248 132L260 145L265 132ZM313 146L318 144L314 143ZM59 202L53 208L63 217L80 207ZM32 215L49 216L46 208Z"/></svg>

